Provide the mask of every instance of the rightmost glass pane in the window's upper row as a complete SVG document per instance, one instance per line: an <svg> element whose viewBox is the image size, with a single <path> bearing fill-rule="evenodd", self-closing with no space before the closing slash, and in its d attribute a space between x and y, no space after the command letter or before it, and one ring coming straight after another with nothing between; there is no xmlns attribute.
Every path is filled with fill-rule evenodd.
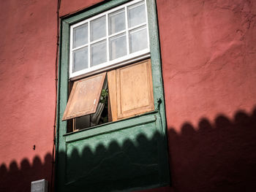
<svg viewBox="0 0 256 192"><path fill-rule="evenodd" d="M139 2L128 7L128 23L129 27L146 23L145 4Z"/></svg>

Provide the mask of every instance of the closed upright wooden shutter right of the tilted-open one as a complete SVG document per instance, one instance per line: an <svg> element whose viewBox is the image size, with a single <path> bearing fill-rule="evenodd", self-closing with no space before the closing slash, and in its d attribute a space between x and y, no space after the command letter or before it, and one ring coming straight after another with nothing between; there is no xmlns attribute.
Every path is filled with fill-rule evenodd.
<svg viewBox="0 0 256 192"><path fill-rule="evenodd" d="M154 110L150 59L108 72L112 119Z"/></svg>

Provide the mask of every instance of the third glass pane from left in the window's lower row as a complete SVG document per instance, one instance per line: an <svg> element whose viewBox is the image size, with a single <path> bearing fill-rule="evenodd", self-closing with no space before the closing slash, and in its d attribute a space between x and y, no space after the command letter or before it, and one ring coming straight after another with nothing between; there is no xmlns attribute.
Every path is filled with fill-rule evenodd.
<svg viewBox="0 0 256 192"><path fill-rule="evenodd" d="M126 39L125 34L110 38L110 60L127 55Z"/></svg>

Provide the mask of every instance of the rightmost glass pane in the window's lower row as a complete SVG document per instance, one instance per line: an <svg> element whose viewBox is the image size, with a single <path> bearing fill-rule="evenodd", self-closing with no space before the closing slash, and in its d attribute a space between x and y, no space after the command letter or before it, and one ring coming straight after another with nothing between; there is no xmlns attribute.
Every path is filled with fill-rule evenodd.
<svg viewBox="0 0 256 192"><path fill-rule="evenodd" d="M135 53L148 47L146 28L138 28L129 32L129 51Z"/></svg>

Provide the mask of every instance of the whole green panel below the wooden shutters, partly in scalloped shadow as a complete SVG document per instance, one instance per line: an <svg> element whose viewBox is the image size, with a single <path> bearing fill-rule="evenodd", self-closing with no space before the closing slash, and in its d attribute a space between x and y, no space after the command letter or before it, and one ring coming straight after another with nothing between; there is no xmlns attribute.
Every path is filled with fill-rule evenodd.
<svg viewBox="0 0 256 192"><path fill-rule="evenodd" d="M132 191L164 184L159 128L154 121L69 142L67 191L84 191L85 186L86 191Z"/></svg>

